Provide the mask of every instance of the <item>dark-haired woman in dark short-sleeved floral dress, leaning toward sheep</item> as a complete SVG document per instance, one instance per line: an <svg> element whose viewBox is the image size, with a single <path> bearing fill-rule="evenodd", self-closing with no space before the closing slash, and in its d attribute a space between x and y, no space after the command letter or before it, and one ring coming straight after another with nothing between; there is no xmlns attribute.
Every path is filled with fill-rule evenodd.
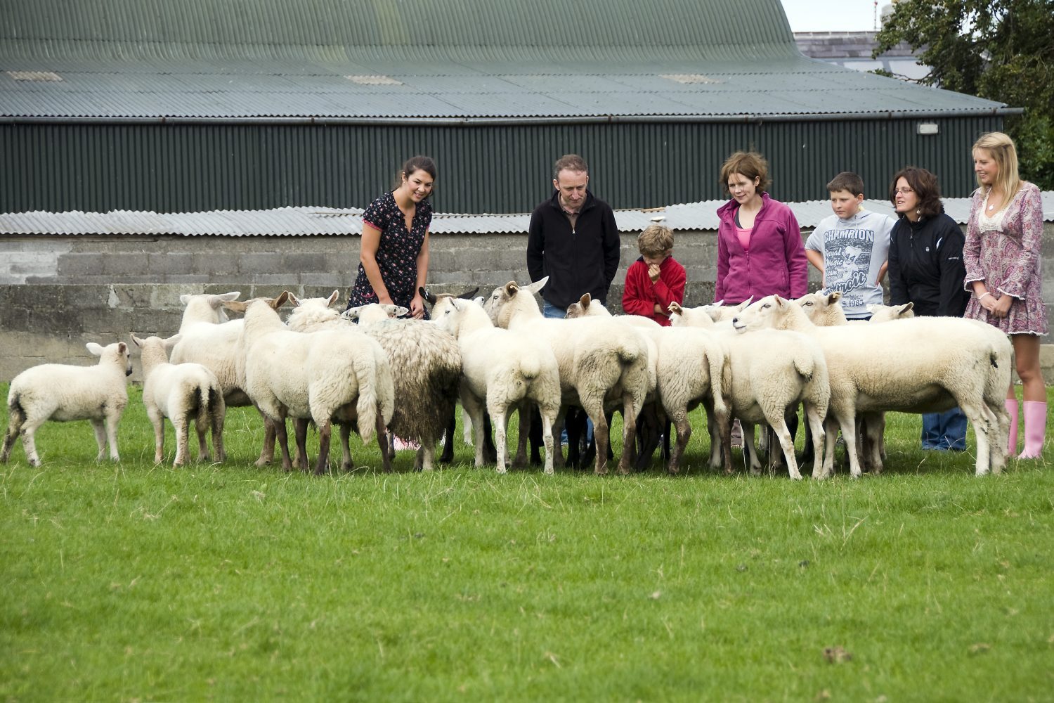
<svg viewBox="0 0 1054 703"><path fill-rule="evenodd" d="M399 184L363 213L358 276L348 307L370 302L403 306L409 315L427 318L418 289L428 278L428 228L435 183L435 162L414 156L403 165Z"/></svg>

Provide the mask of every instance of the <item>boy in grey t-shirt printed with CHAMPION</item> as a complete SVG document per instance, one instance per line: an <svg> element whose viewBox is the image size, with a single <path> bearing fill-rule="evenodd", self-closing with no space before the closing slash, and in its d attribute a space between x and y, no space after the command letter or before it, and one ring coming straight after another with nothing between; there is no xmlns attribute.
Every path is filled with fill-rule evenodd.
<svg viewBox="0 0 1054 703"><path fill-rule="evenodd" d="M827 183L834 215L825 217L805 241L805 257L823 274L823 288L842 294L848 319L868 319L867 306L882 302L882 278L896 219L870 212L863 179L842 172Z"/></svg>

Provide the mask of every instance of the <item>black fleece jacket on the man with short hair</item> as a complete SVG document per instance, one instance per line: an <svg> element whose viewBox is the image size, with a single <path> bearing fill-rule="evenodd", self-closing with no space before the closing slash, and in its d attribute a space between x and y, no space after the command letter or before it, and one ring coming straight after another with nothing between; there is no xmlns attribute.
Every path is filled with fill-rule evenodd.
<svg viewBox="0 0 1054 703"><path fill-rule="evenodd" d="M527 235L530 279L549 276L542 297L558 308L578 302L584 293L605 302L619 270L619 228L611 208L586 191L574 229L560 193L534 209Z"/></svg>

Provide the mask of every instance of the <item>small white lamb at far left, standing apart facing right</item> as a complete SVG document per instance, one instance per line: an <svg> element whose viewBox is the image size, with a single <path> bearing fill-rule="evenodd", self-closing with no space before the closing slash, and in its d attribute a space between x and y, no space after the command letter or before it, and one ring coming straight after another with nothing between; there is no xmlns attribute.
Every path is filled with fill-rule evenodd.
<svg viewBox="0 0 1054 703"><path fill-rule="evenodd" d="M37 429L48 419L65 423L90 419L99 446L96 461L102 461L106 442L110 458L120 461L117 451L117 424L128 405L126 376L132 375L132 356L123 341L102 347L94 341L85 345L99 357L96 366L41 364L21 372L11 382L7 391L7 433L0 450L0 464L7 462L16 437L21 435L22 449L32 466L40 466Z"/></svg>

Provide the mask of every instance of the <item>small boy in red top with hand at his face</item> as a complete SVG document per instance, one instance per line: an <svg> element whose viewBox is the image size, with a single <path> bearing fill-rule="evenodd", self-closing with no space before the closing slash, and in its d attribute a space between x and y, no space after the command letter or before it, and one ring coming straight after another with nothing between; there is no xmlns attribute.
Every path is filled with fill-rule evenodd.
<svg viewBox="0 0 1054 703"><path fill-rule="evenodd" d="M650 224L637 237L641 257L626 271L622 309L669 327L669 304L684 302L684 267L674 258L674 232Z"/></svg>

